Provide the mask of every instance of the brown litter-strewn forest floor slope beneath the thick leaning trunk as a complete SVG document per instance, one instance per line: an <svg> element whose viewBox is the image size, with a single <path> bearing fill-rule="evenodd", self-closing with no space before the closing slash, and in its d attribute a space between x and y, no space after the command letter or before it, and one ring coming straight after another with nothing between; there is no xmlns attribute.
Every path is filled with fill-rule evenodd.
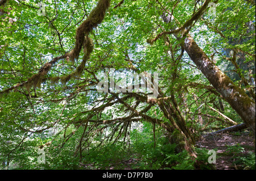
<svg viewBox="0 0 256 181"><path fill-rule="evenodd" d="M217 170L241 170L246 169L249 154L255 152L253 140L249 131L220 133L204 137L197 145L216 151Z"/></svg>

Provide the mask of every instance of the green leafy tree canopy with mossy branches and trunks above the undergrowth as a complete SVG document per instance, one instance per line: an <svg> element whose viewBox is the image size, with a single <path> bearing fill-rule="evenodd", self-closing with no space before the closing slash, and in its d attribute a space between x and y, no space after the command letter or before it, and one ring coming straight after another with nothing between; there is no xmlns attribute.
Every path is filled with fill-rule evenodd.
<svg viewBox="0 0 256 181"><path fill-rule="evenodd" d="M255 1L1 0L0 18L3 167L135 133L191 158L215 129L255 136Z"/></svg>

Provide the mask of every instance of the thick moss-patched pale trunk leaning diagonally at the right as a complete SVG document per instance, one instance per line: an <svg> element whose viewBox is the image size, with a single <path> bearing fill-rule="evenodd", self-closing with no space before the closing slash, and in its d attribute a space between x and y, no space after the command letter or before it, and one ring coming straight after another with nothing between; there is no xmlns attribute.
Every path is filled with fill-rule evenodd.
<svg viewBox="0 0 256 181"><path fill-rule="evenodd" d="M255 102L234 85L233 81L224 74L210 60L207 54L196 44L190 35L187 35L184 49L196 64L197 68L205 75L213 87L221 94L222 98L241 116L245 124L250 127L255 136Z"/></svg>

